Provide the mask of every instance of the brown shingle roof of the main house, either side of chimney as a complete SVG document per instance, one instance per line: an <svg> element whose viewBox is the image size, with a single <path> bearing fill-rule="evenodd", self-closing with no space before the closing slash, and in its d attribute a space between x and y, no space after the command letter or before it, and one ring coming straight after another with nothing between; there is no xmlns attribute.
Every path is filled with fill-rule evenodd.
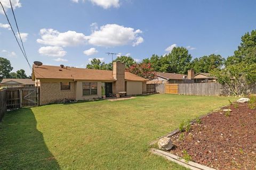
<svg viewBox="0 0 256 170"><path fill-rule="evenodd" d="M42 65L33 65L33 79L71 79L71 80L105 80L116 81L113 78L112 71L96 70L96 69L81 69L75 67L63 67ZM130 72L125 72L125 80L130 81L147 81Z"/></svg>

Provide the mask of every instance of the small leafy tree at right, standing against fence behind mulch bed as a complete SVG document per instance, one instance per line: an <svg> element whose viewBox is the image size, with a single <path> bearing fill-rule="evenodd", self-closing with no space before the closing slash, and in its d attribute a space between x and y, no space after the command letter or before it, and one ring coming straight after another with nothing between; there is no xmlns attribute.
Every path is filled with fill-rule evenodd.
<svg viewBox="0 0 256 170"><path fill-rule="evenodd" d="M256 63L241 62L228 65L224 69L214 69L211 74L218 78L218 82L230 88L235 96L243 96L246 90L256 83Z"/></svg>

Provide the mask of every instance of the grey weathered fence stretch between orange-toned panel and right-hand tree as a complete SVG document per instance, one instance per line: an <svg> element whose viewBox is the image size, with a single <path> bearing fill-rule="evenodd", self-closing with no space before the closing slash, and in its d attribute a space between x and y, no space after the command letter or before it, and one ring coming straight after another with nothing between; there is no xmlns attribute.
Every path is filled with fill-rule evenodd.
<svg viewBox="0 0 256 170"><path fill-rule="evenodd" d="M216 82L183 83L179 84L178 94L198 96L219 96L222 94L222 85Z"/></svg>

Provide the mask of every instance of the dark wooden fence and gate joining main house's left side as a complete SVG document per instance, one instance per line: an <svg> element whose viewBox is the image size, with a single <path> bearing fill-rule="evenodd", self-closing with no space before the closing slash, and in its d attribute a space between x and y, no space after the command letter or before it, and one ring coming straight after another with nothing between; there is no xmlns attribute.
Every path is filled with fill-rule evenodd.
<svg viewBox="0 0 256 170"><path fill-rule="evenodd" d="M38 106L39 88L7 88L7 109Z"/></svg>

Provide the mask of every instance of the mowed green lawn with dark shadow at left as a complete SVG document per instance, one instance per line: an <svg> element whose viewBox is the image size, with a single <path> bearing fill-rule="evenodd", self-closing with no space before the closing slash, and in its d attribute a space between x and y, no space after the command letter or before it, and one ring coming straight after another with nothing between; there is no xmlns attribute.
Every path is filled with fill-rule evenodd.
<svg viewBox="0 0 256 170"><path fill-rule="evenodd" d="M139 96L23 108L0 124L0 169L185 169L149 142L233 97Z"/></svg>

